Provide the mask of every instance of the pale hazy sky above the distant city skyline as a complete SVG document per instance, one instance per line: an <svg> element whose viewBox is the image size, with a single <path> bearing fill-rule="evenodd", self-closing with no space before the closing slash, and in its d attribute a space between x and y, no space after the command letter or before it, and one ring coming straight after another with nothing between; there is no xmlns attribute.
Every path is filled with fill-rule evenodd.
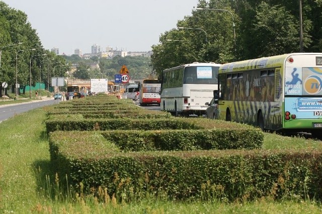
<svg viewBox="0 0 322 214"><path fill-rule="evenodd" d="M160 34L191 16L198 0L0 0L28 16L45 49L59 54L92 45L150 51Z"/></svg>

